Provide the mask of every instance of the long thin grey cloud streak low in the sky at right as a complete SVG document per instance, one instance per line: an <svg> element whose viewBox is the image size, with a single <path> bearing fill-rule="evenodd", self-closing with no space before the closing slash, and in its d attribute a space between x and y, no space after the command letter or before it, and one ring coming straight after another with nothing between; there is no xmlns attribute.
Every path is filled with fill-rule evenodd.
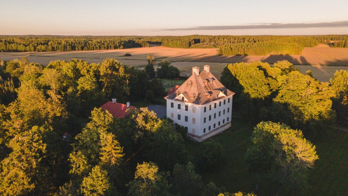
<svg viewBox="0 0 348 196"><path fill-rule="evenodd" d="M257 23L251 25L232 26L198 26L190 28L160 29L159 31L181 31L181 30L235 30L235 29L290 29L290 28L333 28L348 27L348 21L321 22L321 23Z"/></svg>

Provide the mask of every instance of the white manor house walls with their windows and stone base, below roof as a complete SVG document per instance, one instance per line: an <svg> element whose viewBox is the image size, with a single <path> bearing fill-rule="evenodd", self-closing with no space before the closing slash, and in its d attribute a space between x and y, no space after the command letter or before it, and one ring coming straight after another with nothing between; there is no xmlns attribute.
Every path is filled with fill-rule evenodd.
<svg viewBox="0 0 348 196"><path fill-rule="evenodd" d="M232 96L223 97L204 105L167 99L167 117L171 118L174 123L187 127L188 136L193 140L202 142L230 127ZM180 115L180 119L178 115Z"/></svg>

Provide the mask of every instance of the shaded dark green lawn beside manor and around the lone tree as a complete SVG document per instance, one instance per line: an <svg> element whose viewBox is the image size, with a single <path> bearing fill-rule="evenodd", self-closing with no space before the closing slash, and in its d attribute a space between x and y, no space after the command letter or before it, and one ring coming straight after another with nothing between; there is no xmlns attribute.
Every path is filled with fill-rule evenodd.
<svg viewBox="0 0 348 196"><path fill-rule="evenodd" d="M240 119L232 120L232 127L212 137L223 146L220 165L201 172L203 181L224 186L230 193L238 191L257 195L275 195L277 184L260 181L255 190L258 176L250 172L244 156L252 144L250 137L255 125L248 125ZM309 169L309 195L347 195L348 193L348 133L335 133L325 139L313 139L319 160ZM200 153L201 143L186 140L190 153ZM284 193L283 193L284 194ZM292 193L290 193L292 195Z"/></svg>

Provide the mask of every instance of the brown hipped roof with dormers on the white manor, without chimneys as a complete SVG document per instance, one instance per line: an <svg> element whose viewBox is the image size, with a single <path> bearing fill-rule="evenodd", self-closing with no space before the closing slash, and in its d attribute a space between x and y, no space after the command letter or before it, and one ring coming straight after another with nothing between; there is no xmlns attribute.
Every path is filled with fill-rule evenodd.
<svg viewBox="0 0 348 196"><path fill-rule="evenodd" d="M188 83L191 84L188 85ZM198 105L220 99L221 97L217 97L220 93L223 93L224 96L235 94L222 85L211 72L207 73L206 71L200 71L198 76L192 74L175 92L170 95L168 93L165 99L174 100L176 96L182 93L189 100L189 103ZM192 96L193 99L190 99Z"/></svg>

